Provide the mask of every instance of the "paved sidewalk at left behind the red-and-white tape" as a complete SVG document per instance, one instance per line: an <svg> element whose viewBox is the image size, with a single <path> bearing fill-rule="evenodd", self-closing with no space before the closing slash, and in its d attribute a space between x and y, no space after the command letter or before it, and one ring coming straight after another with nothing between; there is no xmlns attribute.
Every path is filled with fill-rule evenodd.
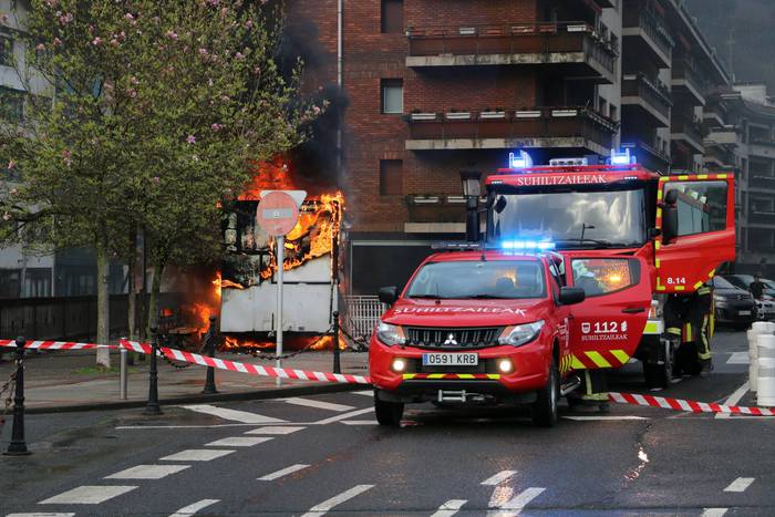
<svg viewBox="0 0 775 517"><path fill-rule="evenodd" d="M10 355L4 355L9 358ZM365 352L342 352L342 373L365 375L368 370ZM249 354L221 353L218 359L273 366L275 361L266 361ZM148 396L148 358L128 366L127 400L122 401L117 352L111 352L111 371L96 368L94 351L50 351L40 354L28 351L24 369L24 406L30 413L52 413L63 411L110 410L117 407L141 407ZM162 404L179 404L203 401L271 399L310 393L327 393L349 390L368 390L358 384L293 381L283 379L282 386L276 386L273 378L255 376L227 370L216 370L215 380L218 393L203 395L207 369L193 364L176 369L166 361L158 362L158 396ZM331 372L333 354L308 352L285 360L283 368ZM0 385L3 384L16 364L0 363ZM4 396L3 396L4 399ZM0 404L2 406L2 404Z"/></svg>

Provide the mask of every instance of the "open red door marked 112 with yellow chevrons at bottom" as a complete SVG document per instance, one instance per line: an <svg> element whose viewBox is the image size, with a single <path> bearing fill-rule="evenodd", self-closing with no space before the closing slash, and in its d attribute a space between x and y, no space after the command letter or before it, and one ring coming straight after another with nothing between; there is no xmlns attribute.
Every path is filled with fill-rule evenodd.
<svg viewBox="0 0 775 517"><path fill-rule="evenodd" d="M651 307L645 260L572 256L568 262L572 285L587 293L583 302L570 307L572 369L626 364L638 349Z"/></svg>

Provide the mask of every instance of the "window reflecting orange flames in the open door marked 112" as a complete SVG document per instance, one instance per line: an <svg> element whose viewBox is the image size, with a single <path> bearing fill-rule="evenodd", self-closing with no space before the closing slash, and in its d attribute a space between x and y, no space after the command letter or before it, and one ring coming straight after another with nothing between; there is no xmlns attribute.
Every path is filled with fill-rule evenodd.
<svg viewBox="0 0 775 517"><path fill-rule="evenodd" d="M574 259L574 286L588 297L621 291L640 281L640 266L629 259Z"/></svg>

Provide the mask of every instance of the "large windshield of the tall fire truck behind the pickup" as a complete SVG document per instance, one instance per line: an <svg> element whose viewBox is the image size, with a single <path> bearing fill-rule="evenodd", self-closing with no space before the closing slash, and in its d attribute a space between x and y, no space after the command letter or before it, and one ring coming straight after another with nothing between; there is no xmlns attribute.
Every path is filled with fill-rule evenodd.
<svg viewBox="0 0 775 517"><path fill-rule="evenodd" d="M642 189L496 194L494 240L534 238L561 248L641 246L645 242Z"/></svg>

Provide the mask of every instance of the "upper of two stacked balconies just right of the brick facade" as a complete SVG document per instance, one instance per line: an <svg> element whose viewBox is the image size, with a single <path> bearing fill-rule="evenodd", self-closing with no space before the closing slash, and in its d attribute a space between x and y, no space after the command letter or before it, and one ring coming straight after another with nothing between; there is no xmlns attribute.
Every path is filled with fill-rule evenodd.
<svg viewBox="0 0 775 517"><path fill-rule="evenodd" d="M641 7L624 9L621 35L624 40L626 59L644 56L650 59L657 68L670 68L675 42L666 27L654 14Z"/></svg>

